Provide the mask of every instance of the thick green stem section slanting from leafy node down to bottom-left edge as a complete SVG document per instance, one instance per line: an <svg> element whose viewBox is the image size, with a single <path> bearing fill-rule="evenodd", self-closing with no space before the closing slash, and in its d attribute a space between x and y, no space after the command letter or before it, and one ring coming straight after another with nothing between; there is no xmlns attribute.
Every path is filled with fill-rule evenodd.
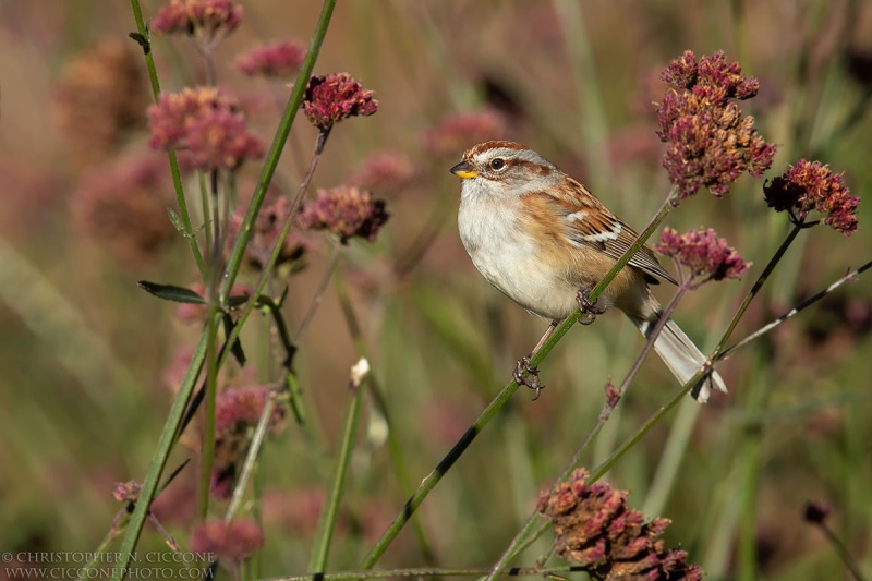
<svg viewBox="0 0 872 581"><path fill-rule="evenodd" d="M164 472L164 467L167 464L167 459L170 456L170 450L174 443L175 431L182 421L187 400L191 399L191 394L194 391L194 386L197 383L203 362L206 359L206 344L208 342L208 331L204 329L203 335L199 337L194 354L191 359L191 366L187 368L184 380L182 382L179 392L172 402L170 412L167 415L167 421L164 424L164 429L160 433L160 439L157 444L157 450L152 458L152 464L148 467L148 473L143 482L142 489L140 491L140 499L136 501L136 508L133 509L131 515L130 524L128 525L124 540L121 542L120 555L121 560L118 567L113 569L113 579L120 580L123 571L130 565L133 552L136 548L136 543L142 534L143 525L148 516L148 509L152 500L155 498L160 474Z"/></svg>

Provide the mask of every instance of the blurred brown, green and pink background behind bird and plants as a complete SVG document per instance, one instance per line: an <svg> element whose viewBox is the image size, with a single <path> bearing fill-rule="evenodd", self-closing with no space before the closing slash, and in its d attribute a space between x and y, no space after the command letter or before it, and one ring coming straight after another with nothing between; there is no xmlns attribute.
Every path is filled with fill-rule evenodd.
<svg viewBox="0 0 872 581"><path fill-rule="evenodd" d="M218 81L268 143L293 80L244 77L234 59L268 39L306 44L320 7L243 5L242 25L217 48ZM144 2L146 16L158 7ZM196 270L166 217L171 189L160 179L130 190L123 181L124 160L147 152L150 88L142 51L128 38L134 28L123 2L0 2L3 550L100 543L120 508L113 483L144 477L178 387L178 362L199 332L175 305L136 288L141 279L190 285ZM457 235L459 184L448 168L485 137L521 141L641 228L669 189L654 133L653 102L665 90L658 72L686 49L723 49L761 80L747 110L780 144L770 178L799 157L820 159L865 197L870 2L339 3L315 71L349 72L380 107L336 128L313 192L343 183L378 153L408 170L377 192L391 214L377 242L353 242L340 264L408 474L403 484L392 471L384 421L368 408L330 569L358 566L402 507L408 484L435 467L546 326L474 271ZM183 39L155 37L154 52L166 90L204 78L202 59ZM450 117L459 113L468 117ZM286 148L279 193L294 191L313 147L316 133L304 121ZM256 165L242 171L243 197L256 177ZM787 232L786 218L766 208L762 183L743 178L720 199L700 192L669 218L679 230L716 228L755 263L744 280L703 287L680 306L676 318L706 348ZM861 230L848 239L824 228L804 232L738 336L867 262L871 211L863 202ZM291 322L307 310L328 254L313 238L306 268L287 279ZM722 372L729 396L704 408L688 399L608 474L632 492L632 506L673 519L667 541L711 579L844 577L821 531L803 522L808 500L832 505L828 524L872 571L871 289L861 278L737 352ZM267 322L251 327L244 340L268 375ZM519 391L424 503L436 562L496 560L593 425L607 378L620 379L641 344L611 313L566 337L543 366L543 397L531 402ZM296 360L312 427L289 419L264 450L265 576L305 572L355 361L329 287ZM675 389L659 361L646 362L584 464L606 458ZM192 455L180 448L171 463ZM159 500L161 522L182 546L195 465ZM548 538L525 553L525 565L547 550ZM161 546L147 528L142 547ZM409 530L380 565L424 562Z"/></svg>

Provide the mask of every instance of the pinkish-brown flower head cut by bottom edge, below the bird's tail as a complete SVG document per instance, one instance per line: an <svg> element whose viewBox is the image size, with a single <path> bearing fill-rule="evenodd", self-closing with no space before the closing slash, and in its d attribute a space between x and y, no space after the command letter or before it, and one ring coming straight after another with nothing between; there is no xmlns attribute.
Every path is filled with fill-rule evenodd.
<svg viewBox="0 0 872 581"><path fill-rule="evenodd" d="M689 565L683 550L665 548L659 536L668 519L645 522L627 506L629 493L586 481L588 471L577 470L538 499L538 511L554 526L557 555L596 579L702 579L702 569Z"/></svg>

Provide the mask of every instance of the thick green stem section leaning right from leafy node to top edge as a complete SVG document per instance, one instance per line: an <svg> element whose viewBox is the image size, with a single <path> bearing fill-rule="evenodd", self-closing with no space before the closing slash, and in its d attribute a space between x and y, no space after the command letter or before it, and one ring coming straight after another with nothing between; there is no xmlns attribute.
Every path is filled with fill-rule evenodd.
<svg viewBox="0 0 872 581"><path fill-rule="evenodd" d="M252 237L254 221L257 218L257 214L264 203L269 183L272 181L272 175L278 167L281 152L284 148L284 143L288 141L288 135L291 132L291 125L293 125L293 120L296 117L296 111L300 109L300 104L303 101L303 94L305 93L308 78L312 76L312 71L315 68L315 61L317 60L318 53L320 52L320 47L324 44L324 37L327 35L327 28L329 27L330 17L332 16L335 7L336 0L324 0L318 24L315 28L315 34L313 35L312 41L308 45L308 52L306 53L306 58L300 69L300 73L296 75L296 82L294 83L293 90L288 99L288 105L284 107L284 113L281 117L281 122L276 131L276 136L272 138L272 145L270 145L269 153L266 156L266 161L264 162L264 168L261 172L261 179L257 181L257 185L254 189L252 201L249 204L245 217L242 219L242 225L239 229L239 235L237 235L237 240L233 243L233 249L230 251L230 257L228 258L227 267L225 268L225 277L221 281L221 289L219 293L221 304L227 303L227 298L230 295L230 289L233 288L233 283L239 275L239 269L242 266L242 257L245 253L245 246L249 244L249 240L251 240Z"/></svg>

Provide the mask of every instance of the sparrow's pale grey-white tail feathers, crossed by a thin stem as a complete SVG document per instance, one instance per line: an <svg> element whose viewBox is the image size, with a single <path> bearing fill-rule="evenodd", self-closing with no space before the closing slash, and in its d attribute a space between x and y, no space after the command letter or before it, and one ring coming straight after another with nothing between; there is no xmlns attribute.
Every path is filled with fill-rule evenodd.
<svg viewBox="0 0 872 581"><path fill-rule="evenodd" d="M627 316L645 338L647 338L656 325L656 320L651 322L634 315ZM703 355L697 346L693 344L693 341L685 335L685 331L678 328L678 325L676 325L673 319L666 322L663 331L661 331L657 339L654 341L654 351L657 352L663 362L666 363L666 366L669 367L669 371L673 372L673 375L675 375L682 385L688 383L706 361L705 355ZM708 395L712 389L723 391L724 394L727 392L727 385L717 372L712 372L702 385L698 385L693 388L691 394L694 399L704 403L708 400Z"/></svg>

